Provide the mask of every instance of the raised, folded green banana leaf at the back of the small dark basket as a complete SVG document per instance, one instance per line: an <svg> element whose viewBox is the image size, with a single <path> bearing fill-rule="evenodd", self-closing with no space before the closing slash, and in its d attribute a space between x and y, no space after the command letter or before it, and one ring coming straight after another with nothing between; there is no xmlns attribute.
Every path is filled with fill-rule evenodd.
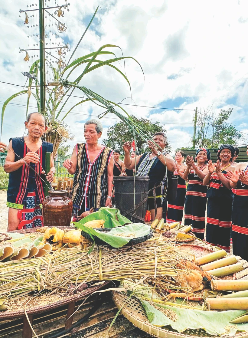
<svg viewBox="0 0 248 338"><path fill-rule="evenodd" d="M131 223L131 221L128 218L121 215L119 209L107 207L100 208L98 211L93 212L92 214L81 219L78 223L84 224L86 222L93 221L95 219L103 219L105 221L104 223L105 228L114 228L115 226ZM74 222L76 226L78 223Z"/></svg>

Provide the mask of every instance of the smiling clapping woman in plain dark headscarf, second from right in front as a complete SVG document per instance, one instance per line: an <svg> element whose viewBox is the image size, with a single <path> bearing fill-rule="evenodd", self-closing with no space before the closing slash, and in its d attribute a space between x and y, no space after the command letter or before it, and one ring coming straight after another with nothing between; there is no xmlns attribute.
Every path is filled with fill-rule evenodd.
<svg viewBox="0 0 248 338"><path fill-rule="evenodd" d="M206 242L230 251L230 235L232 223L233 192L227 175L227 170L235 169L230 162L235 149L230 144L220 146L214 164L208 162L208 173L203 179L207 190L207 226Z"/></svg>

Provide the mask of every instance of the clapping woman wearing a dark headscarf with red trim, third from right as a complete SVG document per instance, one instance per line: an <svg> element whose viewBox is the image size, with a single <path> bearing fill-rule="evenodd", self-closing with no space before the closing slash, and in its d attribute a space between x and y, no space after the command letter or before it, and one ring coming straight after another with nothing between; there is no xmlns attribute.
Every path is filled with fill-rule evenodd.
<svg viewBox="0 0 248 338"><path fill-rule="evenodd" d="M203 178L208 172L207 162L210 160L210 151L205 148L197 149L195 160L196 163L193 156L187 156L187 168L183 173L183 179L189 180L184 205L184 224L192 224L192 232L196 237L203 239L207 202L207 188L203 186Z"/></svg>

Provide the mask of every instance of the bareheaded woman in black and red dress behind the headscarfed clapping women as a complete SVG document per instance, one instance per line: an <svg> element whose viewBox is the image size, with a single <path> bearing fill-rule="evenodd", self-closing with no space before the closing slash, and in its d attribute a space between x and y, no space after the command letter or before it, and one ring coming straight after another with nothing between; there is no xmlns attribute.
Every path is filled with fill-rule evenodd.
<svg viewBox="0 0 248 338"><path fill-rule="evenodd" d="M176 161L176 171L174 171L174 175L178 176L178 184L177 184L177 195L175 201L168 200L168 209L167 209L167 222L180 222L182 221L183 215L183 207L185 202L185 194L186 194L186 184L185 180L182 178L183 173L187 166L182 163L184 156L184 152L179 150L175 154Z"/></svg>

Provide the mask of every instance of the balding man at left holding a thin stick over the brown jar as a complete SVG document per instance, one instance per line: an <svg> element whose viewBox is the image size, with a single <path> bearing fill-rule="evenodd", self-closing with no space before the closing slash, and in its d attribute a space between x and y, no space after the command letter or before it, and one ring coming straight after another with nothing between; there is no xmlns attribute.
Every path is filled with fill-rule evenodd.
<svg viewBox="0 0 248 338"><path fill-rule="evenodd" d="M45 117L40 113L31 113L27 116L25 126L28 135L10 139L4 164L4 170L9 173L7 231L43 225L41 206L47 182L43 172L46 152L51 153L50 171L47 174L49 182L53 180L55 172L53 145L41 139L47 130Z"/></svg>

